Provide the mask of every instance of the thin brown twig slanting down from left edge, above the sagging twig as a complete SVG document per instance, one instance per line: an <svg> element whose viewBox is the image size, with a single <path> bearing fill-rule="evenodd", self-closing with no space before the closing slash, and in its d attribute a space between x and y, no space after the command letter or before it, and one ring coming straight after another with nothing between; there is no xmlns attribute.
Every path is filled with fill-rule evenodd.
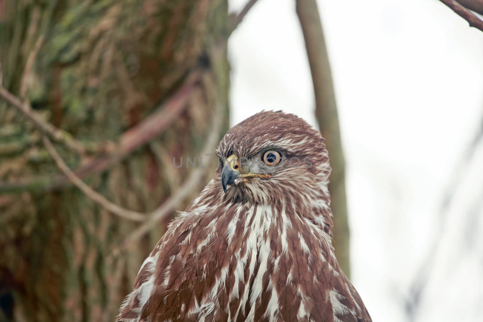
<svg viewBox="0 0 483 322"><path fill-rule="evenodd" d="M76 151L79 154L84 154L86 152L84 144L74 139L69 133L57 128L51 123L45 121L40 117L37 112L30 108L28 102L22 103L22 101L14 96L14 94L7 91L5 88L0 87L0 97L5 101L10 103L19 112L24 114L28 119L30 119L35 127L44 134L48 134L54 140L64 143L67 147Z"/></svg>

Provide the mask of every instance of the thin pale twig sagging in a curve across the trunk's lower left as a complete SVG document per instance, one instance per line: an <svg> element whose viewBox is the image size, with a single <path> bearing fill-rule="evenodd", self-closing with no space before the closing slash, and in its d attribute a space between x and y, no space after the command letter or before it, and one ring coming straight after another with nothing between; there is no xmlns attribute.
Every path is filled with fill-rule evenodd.
<svg viewBox="0 0 483 322"><path fill-rule="evenodd" d="M79 179L79 177L77 177L72 172L72 170L67 166L62 157L57 153L57 150L54 148L54 145L47 138L47 136L44 135L42 140L50 156L52 156L52 159L54 159L57 167L65 174L65 176L72 182L72 184L74 184L77 188L81 189L82 192L84 192L85 196L96 202L102 208L109 210L110 212L121 218L137 222L141 222L145 219L145 215L143 213L122 208L107 200L107 198L105 198L104 196L99 195L96 191L94 191L91 187L85 184L81 179Z"/></svg>

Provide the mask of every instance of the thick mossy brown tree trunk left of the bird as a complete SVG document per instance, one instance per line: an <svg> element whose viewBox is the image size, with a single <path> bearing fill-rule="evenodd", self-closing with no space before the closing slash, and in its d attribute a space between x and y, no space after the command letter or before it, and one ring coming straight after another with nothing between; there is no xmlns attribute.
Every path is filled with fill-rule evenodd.
<svg viewBox="0 0 483 322"><path fill-rule="evenodd" d="M192 170L173 156L178 165L197 155L216 106L220 136L227 130L226 26L225 0L0 0L2 86L77 140L116 142L200 70L161 135L83 178L122 207L151 211ZM113 256L138 224L68 182L53 185L59 170L39 131L4 102L0 122L0 321L113 321L169 220ZM56 148L72 169L99 157Z"/></svg>

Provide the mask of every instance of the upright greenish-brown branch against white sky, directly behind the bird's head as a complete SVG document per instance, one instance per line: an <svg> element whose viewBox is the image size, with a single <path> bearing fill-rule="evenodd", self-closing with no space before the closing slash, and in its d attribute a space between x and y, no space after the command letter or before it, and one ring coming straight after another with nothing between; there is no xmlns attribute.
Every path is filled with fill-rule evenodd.
<svg viewBox="0 0 483 322"><path fill-rule="evenodd" d="M349 276L349 224L345 195L345 161L324 32L315 0L297 0L296 9L312 73L315 116L330 154L332 172L328 188L334 215L334 248L342 270Z"/></svg>

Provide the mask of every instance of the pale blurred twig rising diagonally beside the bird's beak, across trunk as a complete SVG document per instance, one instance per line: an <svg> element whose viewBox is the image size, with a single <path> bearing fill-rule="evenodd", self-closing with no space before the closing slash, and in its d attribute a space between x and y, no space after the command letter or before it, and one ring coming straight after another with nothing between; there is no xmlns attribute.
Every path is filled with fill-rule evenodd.
<svg viewBox="0 0 483 322"><path fill-rule="evenodd" d="M208 138L201 149L200 155L210 155L213 152L213 148L215 147L218 135L221 127L221 116L222 111L219 106L217 106L217 111L214 113L214 120L213 126L208 135ZM120 254L121 251L127 249L129 246L132 246L136 243L137 240L142 238L146 235L154 225L159 223L161 220L166 218L186 196L191 194L193 189L197 187L197 183L201 180L203 175L205 174L205 168L196 168L194 169L188 179L181 185L178 191L170 196L168 200L166 200L161 206L159 206L156 210L149 214L149 219L141 224L138 228L136 228L123 242L119 245L119 247L115 248L112 252L113 256L117 256Z"/></svg>

